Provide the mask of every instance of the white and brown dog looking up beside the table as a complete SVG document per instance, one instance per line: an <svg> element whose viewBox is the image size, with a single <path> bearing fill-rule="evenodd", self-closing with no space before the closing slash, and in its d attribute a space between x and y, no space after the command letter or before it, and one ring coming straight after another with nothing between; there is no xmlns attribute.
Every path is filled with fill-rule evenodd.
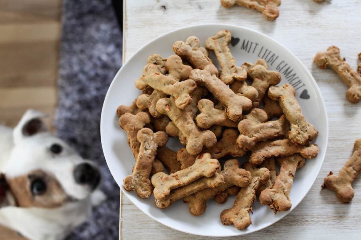
<svg viewBox="0 0 361 240"><path fill-rule="evenodd" d="M14 129L0 126L0 239L5 228L63 239L105 199L97 166L52 135L42 117L28 110Z"/></svg>

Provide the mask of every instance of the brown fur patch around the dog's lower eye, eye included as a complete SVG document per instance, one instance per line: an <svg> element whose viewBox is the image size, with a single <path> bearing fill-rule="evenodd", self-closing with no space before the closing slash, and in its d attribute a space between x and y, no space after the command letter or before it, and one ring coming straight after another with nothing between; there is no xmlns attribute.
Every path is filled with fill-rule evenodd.
<svg viewBox="0 0 361 240"><path fill-rule="evenodd" d="M56 208L69 200L57 179L43 170L6 181L19 207Z"/></svg>

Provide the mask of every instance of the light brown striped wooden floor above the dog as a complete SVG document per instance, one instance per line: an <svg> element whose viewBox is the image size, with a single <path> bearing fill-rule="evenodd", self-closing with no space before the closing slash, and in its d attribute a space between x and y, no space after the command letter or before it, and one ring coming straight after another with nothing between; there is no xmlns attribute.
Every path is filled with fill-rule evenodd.
<svg viewBox="0 0 361 240"><path fill-rule="evenodd" d="M28 108L53 116L60 16L61 0L0 0L1 125L16 125Z"/></svg>

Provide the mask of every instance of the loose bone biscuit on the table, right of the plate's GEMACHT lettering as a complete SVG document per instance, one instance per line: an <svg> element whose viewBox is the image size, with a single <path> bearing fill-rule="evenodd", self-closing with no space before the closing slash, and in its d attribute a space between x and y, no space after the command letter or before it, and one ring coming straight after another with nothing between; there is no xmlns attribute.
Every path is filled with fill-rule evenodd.
<svg viewBox="0 0 361 240"><path fill-rule="evenodd" d="M358 103L361 99L361 75L353 70L350 65L340 56L340 49L330 46L327 52L319 52L313 59L319 68L331 68L340 79L348 86L347 100Z"/></svg>

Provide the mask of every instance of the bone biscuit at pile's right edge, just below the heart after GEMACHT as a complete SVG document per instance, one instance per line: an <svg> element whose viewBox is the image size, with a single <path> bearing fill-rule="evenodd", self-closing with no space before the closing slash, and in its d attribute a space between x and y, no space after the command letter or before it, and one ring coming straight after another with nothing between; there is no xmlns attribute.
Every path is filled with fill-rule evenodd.
<svg viewBox="0 0 361 240"><path fill-rule="evenodd" d="M286 119L291 123L288 138L297 145L306 145L317 137L318 132L306 121L295 94L296 90L287 83L282 86L271 86L268 90L268 96L279 102Z"/></svg>

